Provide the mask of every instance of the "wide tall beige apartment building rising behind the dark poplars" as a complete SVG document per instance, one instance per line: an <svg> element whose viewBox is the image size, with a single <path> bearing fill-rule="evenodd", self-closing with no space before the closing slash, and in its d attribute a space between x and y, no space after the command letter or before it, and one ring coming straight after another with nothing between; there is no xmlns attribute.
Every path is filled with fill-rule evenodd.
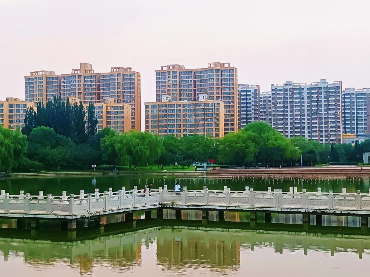
<svg viewBox="0 0 370 277"><path fill-rule="evenodd" d="M24 76L25 100L33 103L77 98L84 104L100 103L103 98L111 98L115 103L130 105L130 129L141 129L141 79L140 73L131 67L111 67L110 72L95 73L92 65L80 63L80 68L68 74L55 74L54 71L32 71Z"/></svg>

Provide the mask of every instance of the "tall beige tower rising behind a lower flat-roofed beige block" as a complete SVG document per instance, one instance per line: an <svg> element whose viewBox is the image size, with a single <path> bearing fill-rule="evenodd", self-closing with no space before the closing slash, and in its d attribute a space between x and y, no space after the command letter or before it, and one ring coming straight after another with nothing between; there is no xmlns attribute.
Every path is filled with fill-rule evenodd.
<svg viewBox="0 0 370 277"><path fill-rule="evenodd" d="M210 62L206 68L186 69L183 65L163 65L155 71L156 101L171 96L173 102L195 101L206 94L208 100L222 100L225 134L238 131L238 70L225 62Z"/></svg>

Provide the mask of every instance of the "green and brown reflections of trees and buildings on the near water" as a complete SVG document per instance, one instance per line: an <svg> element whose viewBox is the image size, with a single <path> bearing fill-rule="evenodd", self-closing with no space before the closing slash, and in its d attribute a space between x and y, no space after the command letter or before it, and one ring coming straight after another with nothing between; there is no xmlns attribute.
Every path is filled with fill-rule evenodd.
<svg viewBox="0 0 370 277"><path fill-rule="evenodd" d="M178 227L158 227L125 234L88 239L83 242L0 239L0 256L11 260L22 253L30 266L66 261L89 273L94 266L108 264L128 271L140 266L142 247L156 247L157 264L168 269L200 263L219 269L240 265L240 253L270 248L276 253L319 251L370 253L370 236L320 235L298 232Z"/></svg>

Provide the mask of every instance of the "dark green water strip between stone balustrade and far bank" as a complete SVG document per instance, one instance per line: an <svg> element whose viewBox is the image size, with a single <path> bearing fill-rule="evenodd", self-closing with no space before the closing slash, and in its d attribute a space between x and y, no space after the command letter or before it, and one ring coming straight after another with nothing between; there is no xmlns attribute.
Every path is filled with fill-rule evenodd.
<svg viewBox="0 0 370 277"><path fill-rule="evenodd" d="M245 190L246 186L258 191L266 191L268 187L272 189L281 188L283 191L289 191L289 187L297 187L298 191L306 189L307 191L317 191L320 187L323 192L333 189L334 192L342 192L342 188L347 188L347 192L369 192L369 178L342 177L339 179L306 179L306 178L246 178L246 177L224 177L224 178L194 178L184 175L112 175L100 177L58 177L58 178L3 178L0 179L0 189L9 192L9 194L19 194L20 190L31 195L38 194L38 191L44 191L44 195L61 195L62 191L67 194L78 194L80 189L85 193L94 192L96 188L99 191L118 191L121 187L130 190L134 185L138 189L143 189L150 182L153 188L157 189L167 185L173 189L175 182L179 181L182 186L186 185L188 189L203 189L207 186L209 189L223 189L224 186L231 190Z"/></svg>

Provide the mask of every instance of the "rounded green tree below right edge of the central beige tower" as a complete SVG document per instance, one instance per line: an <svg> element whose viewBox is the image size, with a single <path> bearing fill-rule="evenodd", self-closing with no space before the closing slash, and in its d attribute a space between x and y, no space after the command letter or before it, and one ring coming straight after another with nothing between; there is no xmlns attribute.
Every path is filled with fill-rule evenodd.
<svg viewBox="0 0 370 277"><path fill-rule="evenodd" d="M245 130L227 134L220 142L219 160L223 163L233 162L242 165L253 161L258 151L252 141L253 138L253 134Z"/></svg>

